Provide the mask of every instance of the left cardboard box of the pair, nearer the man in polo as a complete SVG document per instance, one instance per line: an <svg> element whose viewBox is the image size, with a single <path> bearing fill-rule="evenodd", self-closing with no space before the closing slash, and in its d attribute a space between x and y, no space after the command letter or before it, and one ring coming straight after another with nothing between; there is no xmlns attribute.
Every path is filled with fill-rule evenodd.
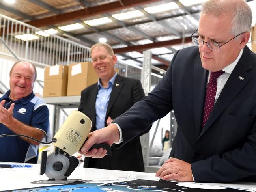
<svg viewBox="0 0 256 192"><path fill-rule="evenodd" d="M67 95L67 65L45 67L45 85L43 97L60 97Z"/></svg>

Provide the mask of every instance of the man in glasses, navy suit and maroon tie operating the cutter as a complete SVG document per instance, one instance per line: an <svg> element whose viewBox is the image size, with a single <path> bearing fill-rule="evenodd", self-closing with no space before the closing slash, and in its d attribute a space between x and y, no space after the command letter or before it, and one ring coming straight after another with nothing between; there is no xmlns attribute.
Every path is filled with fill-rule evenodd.
<svg viewBox="0 0 256 192"><path fill-rule="evenodd" d="M255 182L256 54L246 46L251 22L243 0L205 2L199 37L192 37L198 47L179 50L155 89L114 120L121 132L115 124L93 132L82 151L102 157L106 151L87 150L94 143L118 144L120 138L117 146L125 144L173 109L178 130L156 177Z"/></svg>

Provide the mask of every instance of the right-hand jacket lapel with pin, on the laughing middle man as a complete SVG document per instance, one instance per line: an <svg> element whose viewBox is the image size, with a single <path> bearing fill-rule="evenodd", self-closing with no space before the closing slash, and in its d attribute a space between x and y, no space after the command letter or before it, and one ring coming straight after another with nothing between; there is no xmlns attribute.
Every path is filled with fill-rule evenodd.
<svg viewBox="0 0 256 192"><path fill-rule="evenodd" d="M107 108L107 111L106 111L106 118L110 112L110 109L112 108L112 106L114 105L115 101L116 101L116 98L118 96L118 93L121 91L122 87L123 87L123 77L120 76L120 75L117 75L116 76L116 79L115 79L115 82L113 84L113 87L112 87L112 91L111 91L111 94L110 94L110 98L109 98L109 101L108 101L108 108Z"/></svg>

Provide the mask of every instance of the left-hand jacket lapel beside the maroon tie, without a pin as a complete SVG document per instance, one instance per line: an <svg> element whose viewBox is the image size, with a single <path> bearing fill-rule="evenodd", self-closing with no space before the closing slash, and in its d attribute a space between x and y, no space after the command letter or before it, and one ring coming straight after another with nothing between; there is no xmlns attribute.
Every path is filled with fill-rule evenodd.
<svg viewBox="0 0 256 192"><path fill-rule="evenodd" d="M196 135L199 136L202 129L202 116L204 110L204 97L206 92L207 73L202 67L200 59L194 60L194 116Z"/></svg>

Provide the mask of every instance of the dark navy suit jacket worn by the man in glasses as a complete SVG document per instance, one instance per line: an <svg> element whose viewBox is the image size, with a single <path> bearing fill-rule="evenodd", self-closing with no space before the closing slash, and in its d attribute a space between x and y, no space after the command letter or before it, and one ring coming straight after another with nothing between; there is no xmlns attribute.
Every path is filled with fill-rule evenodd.
<svg viewBox="0 0 256 192"><path fill-rule="evenodd" d="M191 163L195 181L256 181L256 54L244 48L202 130L207 77L198 47L179 50L153 91L114 120L123 144L173 109L170 157Z"/></svg>

